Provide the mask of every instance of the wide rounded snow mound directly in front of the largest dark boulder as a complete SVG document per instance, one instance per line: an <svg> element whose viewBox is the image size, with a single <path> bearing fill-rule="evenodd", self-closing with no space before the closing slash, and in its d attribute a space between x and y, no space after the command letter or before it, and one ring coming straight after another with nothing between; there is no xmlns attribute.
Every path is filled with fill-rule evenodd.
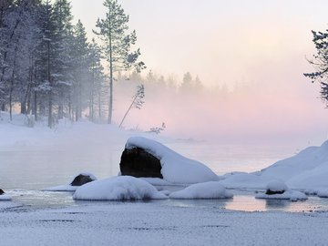
<svg viewBox="0 0 328 246"><path fill-rule="evenodd" d="M118 176L89 182L77 188L75 200L148 200L167 199L148 182L130 176Z"/></svg>

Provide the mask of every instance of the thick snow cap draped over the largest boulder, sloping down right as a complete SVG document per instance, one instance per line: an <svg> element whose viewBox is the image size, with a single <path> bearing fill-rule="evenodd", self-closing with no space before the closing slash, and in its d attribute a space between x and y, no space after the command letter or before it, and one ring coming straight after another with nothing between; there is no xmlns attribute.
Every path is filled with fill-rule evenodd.
<svg viewBox="0 0 328 246"><path fill-rule="evenodd" d="M149 138L128 138L127 149L141 148L160 160L163 179L170 183L192 184L217 181L218 176L197 160L187 159Z"/></svg>

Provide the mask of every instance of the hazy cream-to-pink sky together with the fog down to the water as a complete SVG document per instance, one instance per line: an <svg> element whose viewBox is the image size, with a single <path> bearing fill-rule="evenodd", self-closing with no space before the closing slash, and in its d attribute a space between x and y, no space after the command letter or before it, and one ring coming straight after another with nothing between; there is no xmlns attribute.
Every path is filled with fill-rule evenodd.
<svg viewBox="0 0 328 246"><path fill-rule="evenodd" d="M89 36L102 0L73 0L73 15ZM328 112L320 88L302 73L313 71L311 30L326 29L325 1L200 1L121 4L136 29L148 69L178 77L175 89L147 83L145 105L132 109L125 128L149 130L162 122L163 135L221 142L319 145L327 138ZM92 6L91 6L92 5ZM205 87L179 92L190 71ZM114 87L119 124L140 81Z"/></svg>

